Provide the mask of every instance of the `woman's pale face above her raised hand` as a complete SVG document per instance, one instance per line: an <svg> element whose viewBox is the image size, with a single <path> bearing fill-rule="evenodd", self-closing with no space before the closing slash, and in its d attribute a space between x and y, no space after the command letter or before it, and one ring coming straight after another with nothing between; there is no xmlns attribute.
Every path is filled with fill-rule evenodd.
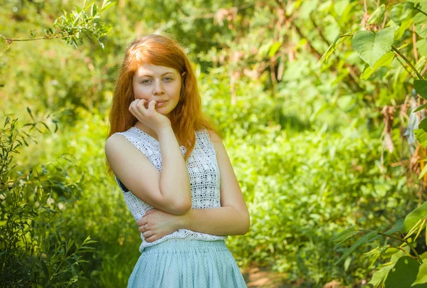
<svg viewBox="0 0 427 288"><path fill-rule="evenodd" d="M139 66L132 78L135 99L157 101L156 111L169 117L179 101L181 75L174 68L144 64Z"/></svg>

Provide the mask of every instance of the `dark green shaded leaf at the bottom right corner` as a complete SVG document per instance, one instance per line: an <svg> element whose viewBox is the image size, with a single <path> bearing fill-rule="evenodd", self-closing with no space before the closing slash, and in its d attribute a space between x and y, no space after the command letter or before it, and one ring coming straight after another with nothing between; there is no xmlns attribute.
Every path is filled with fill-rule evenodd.
<svg viewBox="0 0 427 288"><path fill-rule="evenodd" d="M396 265L389 271L386 279L386 288L411 288L416 279L420 263L413 257L404 256L397 260ZM412 286L414 288L427 288L427 284Z"/></svg>

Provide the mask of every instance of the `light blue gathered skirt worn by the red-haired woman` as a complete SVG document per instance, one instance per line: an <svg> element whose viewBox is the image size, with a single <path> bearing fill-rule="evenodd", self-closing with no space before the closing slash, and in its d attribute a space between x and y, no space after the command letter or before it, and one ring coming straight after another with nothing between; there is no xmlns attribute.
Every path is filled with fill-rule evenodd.
<svg viewBox="0 0 427 288"><path fill-rule="evenodd" d="M169 239L145 247L127 288L247 288L224 240Z"/></svg>

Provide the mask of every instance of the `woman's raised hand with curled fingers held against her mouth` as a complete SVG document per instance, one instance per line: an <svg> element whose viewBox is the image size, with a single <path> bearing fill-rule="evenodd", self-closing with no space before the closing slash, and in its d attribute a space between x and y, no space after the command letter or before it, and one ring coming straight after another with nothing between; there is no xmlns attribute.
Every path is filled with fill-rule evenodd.
<svg viewBox="0 0 427 288"><path fill-rule="evenodd" d="M139 122L144 123L156 133L164 127L171 126L169 118L156 111L156 100L152 100L148 103L148 109L145 107L146 102L148 101L145 99L137 99L130 103L129 111Z"/></svg>

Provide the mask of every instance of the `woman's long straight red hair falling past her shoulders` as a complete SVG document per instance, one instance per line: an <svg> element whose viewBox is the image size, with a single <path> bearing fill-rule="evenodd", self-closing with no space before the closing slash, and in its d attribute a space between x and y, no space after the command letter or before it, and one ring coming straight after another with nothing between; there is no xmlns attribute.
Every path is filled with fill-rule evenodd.
<svg viewBox="0 0 427 288"><path fill-rule="evenodd" d="M107 138L116 132L127 131L138 122L138 119L129 111L130 103L135 100L132 78L137 68L145 63L173 68L181 75L185 72L182 77L179 102L170 113L170 120L178 141L186 147L184 160L187 161L196 144L195 132L199 129L208 129L218 134L218 129L201 111L201 97L196 76L184 48L170 36L139 37L127 47L112 98ZM107 159L105 163L107 174L111 174L112 169Z"/></svg>

